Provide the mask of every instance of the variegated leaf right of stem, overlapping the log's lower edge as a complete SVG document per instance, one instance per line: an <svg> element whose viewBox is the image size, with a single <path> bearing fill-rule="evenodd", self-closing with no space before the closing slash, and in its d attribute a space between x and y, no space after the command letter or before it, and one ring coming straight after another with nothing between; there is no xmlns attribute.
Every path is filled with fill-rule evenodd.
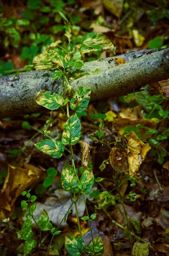
<svg viewBox="0 0 169 256"><path fill-rule="evenodd" d="M83 112L90 101L90 87L81 86L70 100L70 108L78 113Z"/></svg>

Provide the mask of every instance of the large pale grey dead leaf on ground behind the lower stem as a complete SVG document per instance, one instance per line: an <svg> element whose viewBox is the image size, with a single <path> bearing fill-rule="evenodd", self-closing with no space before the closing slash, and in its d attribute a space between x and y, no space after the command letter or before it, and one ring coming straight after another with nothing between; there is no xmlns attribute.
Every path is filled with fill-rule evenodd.
<svg viewBox="0 0 169 256"><path fill-rule="evenodd" d="M96 187L93 188L93 190L97 189ZM92 191L93 191L92 190ZM49 215L49 221L51 221L53 224L56 226L59 225L59 223L62 221L62 218L65 216L65 214L68 212L68 209L70 205L72 204L71 198L70 198L70 193L68 191L65 191L63 189L57 189L55 191L55 195L57 196L51 196L47 198L44 204L38 203L37 202L37 208L34 211L34 218L35 220L38 220L43 209L48 212ZM93 200L93 198L89 197L90 194L84 195L85 200L88 199L90 201ZM85 212L85 203L83 200L83 195L79 196L79 199L77 201L77 209L78 209L78 214L79 218L81 218L84 215ZM76 216L76 210L73 206L71 207L70 211L72 211L72 215ZM68 215L66 215L66 220L68 218ZM65 221L62 222L60 227L66 227L68 226Z"/></svg>

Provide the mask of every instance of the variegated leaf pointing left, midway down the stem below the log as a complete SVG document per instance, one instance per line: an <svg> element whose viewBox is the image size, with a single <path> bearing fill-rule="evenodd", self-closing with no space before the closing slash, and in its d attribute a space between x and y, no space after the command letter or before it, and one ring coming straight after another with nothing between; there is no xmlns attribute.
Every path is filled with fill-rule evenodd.
<svg viewBox="0 0 169 256"><path fill-rule="evenodd" d="M43 153L49 154L54 158L62 157L65 150L65 145L63 145L60 141L52 139L42 140L35 144L35 146Z"/></svg>

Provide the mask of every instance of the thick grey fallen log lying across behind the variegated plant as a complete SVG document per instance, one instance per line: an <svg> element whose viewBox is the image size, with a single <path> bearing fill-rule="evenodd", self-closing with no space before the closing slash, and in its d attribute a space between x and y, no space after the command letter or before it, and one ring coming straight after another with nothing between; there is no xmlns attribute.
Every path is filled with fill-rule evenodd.
<svg viewBox="0 0 169 256"><path fill-rule="evenodd" d="M154 51L145 49L87 62L82 71L102 71L76 79L71 85L74 90L81 85L91 87L91 100L96 100L126 95L150 82L169 78L169 49ZM114 60L119 57L127 63L117 66ZM52 73L38 70L0 77L0 118L44 111L34 100L37 91L42 88L59 93L62 88L62 79L51 80Z"/></svg>

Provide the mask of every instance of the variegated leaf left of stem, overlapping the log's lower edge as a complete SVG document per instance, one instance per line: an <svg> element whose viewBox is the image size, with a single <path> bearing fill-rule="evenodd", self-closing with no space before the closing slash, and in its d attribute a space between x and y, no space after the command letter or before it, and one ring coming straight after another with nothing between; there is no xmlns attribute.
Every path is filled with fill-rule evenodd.
<svg viewBox="0 0 169 256"><path fill-rule="evenodd" d="M62 96L60 96L58 93L51 95L50 91L46 91L44 93L37 92L35 100L37 104L50 110L58 109L64 104L64 99Z"/></svg>

